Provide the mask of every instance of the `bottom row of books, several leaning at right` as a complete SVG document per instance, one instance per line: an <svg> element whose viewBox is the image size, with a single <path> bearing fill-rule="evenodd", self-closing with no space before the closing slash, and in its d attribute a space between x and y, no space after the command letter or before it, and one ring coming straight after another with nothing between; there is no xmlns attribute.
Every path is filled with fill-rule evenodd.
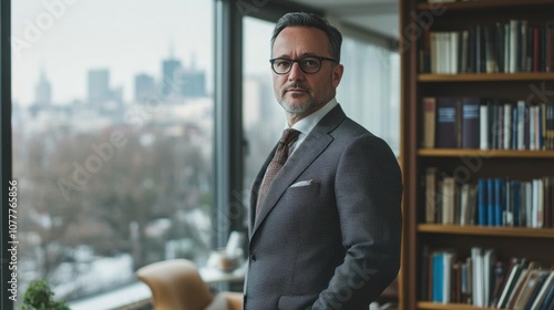
<svg viewBox="0 0 554 310"><path fill-rule="evenodd" d="M496 259L494 249L471 248L465 259L454 249L422 251L421 300L499 309L553 309L554 270L537 261Z"/></svg>

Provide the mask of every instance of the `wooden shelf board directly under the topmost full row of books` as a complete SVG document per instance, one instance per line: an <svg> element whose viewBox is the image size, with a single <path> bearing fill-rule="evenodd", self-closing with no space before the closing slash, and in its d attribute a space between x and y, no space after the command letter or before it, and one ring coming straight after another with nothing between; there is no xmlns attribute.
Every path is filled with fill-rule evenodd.
<svg viewBox="0 0 554 310"><path fill-rule="evenodd" d="M523 72L523 73L459 73L418 75L418 82L505 82L505 81L546 81L554 80L553 72Z"/></svg>

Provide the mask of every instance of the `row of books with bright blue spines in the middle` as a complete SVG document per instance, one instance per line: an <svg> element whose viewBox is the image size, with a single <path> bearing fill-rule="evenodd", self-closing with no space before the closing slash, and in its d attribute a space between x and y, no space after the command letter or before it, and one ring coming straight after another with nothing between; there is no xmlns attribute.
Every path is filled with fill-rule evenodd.
<svg viewBox="0 0 554 310"><path fill-rule="evenodd" d="M554 227L553 176L461 183L437 167L428 167L424 186L428 224Z"/></svg>

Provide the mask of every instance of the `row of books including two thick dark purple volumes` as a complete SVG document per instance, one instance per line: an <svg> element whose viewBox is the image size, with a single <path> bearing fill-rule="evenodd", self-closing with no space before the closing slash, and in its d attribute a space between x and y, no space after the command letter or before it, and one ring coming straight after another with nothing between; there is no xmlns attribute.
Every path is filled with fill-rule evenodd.
<svg viewBox="0 0 554 310"><path fill-rule="evenodd" d="M423 97L422 147L554 149L554 103Z"/></svg>

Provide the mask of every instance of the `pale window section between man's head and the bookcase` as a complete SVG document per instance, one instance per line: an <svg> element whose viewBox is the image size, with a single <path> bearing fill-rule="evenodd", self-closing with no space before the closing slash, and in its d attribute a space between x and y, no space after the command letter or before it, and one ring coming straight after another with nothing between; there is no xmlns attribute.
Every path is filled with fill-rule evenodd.
<svg viewBox="0 0 554 310"><path fill-rule="evenodd" d="M337 101L355 121L400 153L400 56L398 52L345 35L345 74Z"/></svg>

